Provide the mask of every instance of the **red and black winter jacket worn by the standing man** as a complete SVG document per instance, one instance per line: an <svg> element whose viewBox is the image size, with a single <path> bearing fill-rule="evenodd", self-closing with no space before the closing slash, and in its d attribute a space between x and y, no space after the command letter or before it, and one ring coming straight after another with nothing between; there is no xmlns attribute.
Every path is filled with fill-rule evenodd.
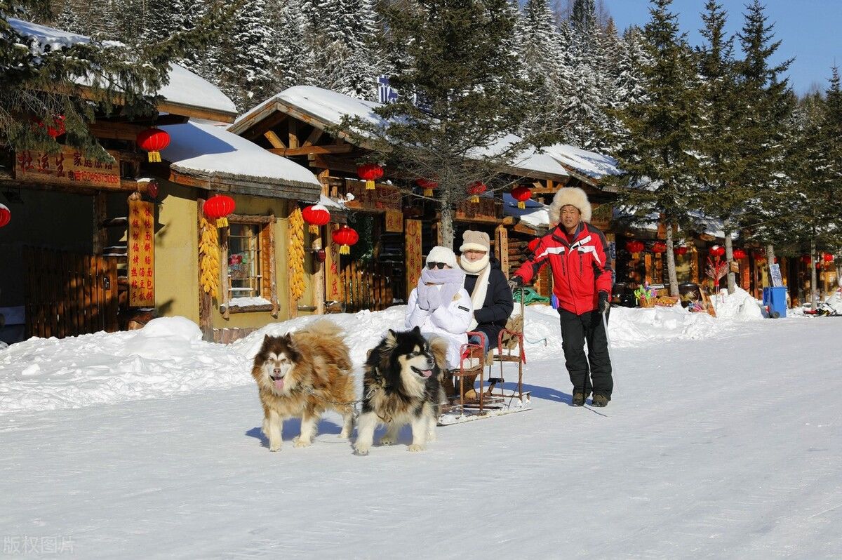
<svg viewBox="0 0 842 560"><path fill-rule="evenodd" d="M562 226L553 228L514 275L528 284L549 263L558 306L581 315L597 308L600 291L611 293L613 279L605 235L583 221L572 237L568 243Z"/></svg>

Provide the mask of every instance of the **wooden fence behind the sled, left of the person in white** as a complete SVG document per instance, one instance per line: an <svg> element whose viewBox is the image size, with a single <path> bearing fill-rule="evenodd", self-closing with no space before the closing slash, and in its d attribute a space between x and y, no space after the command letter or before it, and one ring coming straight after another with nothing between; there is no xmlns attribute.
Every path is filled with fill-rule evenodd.
<svg viewBox="0 0 842 560"><path fill-rule="evenodd" d="M392 306L397 299L403 300L402 269L398 270L392 263L370 261L360 263L351 261L346 264L339 274L343 285L344 312L354 313L362 309L382 311ZM395 288L399 291L396 292Z"/></svg>

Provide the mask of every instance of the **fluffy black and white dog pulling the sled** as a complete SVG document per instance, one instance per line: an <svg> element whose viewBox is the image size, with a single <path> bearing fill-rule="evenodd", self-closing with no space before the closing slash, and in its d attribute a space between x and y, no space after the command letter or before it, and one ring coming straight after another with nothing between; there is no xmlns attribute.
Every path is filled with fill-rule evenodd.
<svg viewBox="0 0 842 560"><path fill-rule="evenodd" d="M423 451L435 440L440 403L444 400L441 374L447 343L424 338L418 327L390 330L369 352L363 377L363 406L357 421L354 449L366 455L378 424L387 424L380 445L392 445L404 424L412 424L413 443L408 451Z"/></svg>

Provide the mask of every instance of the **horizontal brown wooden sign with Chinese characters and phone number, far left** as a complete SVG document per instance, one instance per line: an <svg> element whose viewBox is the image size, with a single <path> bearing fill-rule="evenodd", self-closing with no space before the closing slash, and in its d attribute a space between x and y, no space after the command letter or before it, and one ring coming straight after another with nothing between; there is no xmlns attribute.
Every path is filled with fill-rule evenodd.
<svg viewBox="0 0 842 560"><path fill-rule="evenodd" d="M14 176L20 181L116 189L120 187L120 159L109 153L114 163L94 161L71 147L58 153L24 150L15 154Z"/></svg>

